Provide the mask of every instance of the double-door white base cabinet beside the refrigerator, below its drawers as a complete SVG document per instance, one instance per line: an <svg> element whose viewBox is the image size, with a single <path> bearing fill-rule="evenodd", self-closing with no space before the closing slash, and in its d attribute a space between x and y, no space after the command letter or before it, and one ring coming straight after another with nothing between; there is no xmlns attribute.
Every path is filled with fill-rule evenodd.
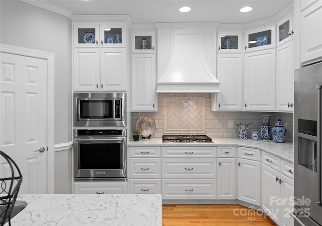
<svg viewBox="0 0 322 226"><path fill-rule="evenodd" d="M293 225L294 182L279 171L262 163L262 209L278 225Z"/></svg>

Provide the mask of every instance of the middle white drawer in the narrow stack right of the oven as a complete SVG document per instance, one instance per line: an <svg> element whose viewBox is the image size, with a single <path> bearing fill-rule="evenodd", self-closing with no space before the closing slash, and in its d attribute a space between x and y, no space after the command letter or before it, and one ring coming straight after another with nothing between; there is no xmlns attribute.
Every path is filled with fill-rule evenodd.
<svg viewBox="0 0 322 226"><path fill-rule="evenodd" d="M159 158L130 158L130 178L161 178Z"/></svg>

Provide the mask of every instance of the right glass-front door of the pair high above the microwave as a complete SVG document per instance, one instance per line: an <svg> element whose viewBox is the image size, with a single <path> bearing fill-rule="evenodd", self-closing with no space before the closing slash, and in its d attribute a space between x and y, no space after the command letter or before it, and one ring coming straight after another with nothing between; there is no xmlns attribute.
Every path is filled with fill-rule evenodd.
<svg viewBox="0 0 322 226"><path fill-rule="evenodd" d="M126 47L125 24L101 24L100 44L101 47Z"/></svg>

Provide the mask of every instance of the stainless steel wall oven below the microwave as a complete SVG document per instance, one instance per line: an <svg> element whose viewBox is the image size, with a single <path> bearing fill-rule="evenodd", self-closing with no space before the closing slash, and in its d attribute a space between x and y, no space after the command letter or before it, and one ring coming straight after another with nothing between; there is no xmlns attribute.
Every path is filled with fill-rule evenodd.
<svg viewBox="0 0 322 226"><path fill-rule="evenodd" d="M74 181L126 181L126 129L74 129Z"/></svg>

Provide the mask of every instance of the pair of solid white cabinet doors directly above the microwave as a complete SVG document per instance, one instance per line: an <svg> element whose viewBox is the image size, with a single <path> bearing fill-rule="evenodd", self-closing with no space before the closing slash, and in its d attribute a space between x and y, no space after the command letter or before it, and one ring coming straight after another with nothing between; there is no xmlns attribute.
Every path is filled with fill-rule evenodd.
<svg viewBox="0 0 322 226"><path fill-rule="evenodd" d="M74 91L125 91L125 48L74 48Z"/></svg>

